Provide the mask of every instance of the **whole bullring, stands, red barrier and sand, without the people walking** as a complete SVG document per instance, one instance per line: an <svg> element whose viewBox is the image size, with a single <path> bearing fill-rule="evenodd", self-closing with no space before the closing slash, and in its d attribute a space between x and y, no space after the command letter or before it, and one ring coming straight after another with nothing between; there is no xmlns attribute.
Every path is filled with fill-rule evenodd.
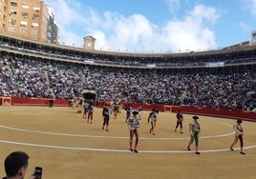
<svg viewBox="0 0 256 179"><path fill-rule="evenodd" d="M0 160L13 150L30 155L29 173L44 179L255 178L256 48L160 53L81 50L0 35ZM69 101L96 89L93 123ZM49 99L53 108L49 108ZM102 105L121 99L117 119L102 130ZM124 104L142 104L139 153L129 150ZM149 111L160 107L156 135ZM176 112L184 117L175 132ZM200 155L186 149L198 115ZM232 125L242 118L245 155ZM0 168L2 176L4 168Z"/></svg>

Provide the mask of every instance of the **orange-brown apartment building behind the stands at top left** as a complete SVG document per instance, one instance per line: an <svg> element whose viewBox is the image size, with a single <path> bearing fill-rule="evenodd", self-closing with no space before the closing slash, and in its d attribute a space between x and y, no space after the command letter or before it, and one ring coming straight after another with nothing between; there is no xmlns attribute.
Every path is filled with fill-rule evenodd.
<svg viewBox="0 0 256 179"><path fill-rule="evenodd" d="M0 32L45 43L59 42L53 10L41 0L0 0Z"/></svg>

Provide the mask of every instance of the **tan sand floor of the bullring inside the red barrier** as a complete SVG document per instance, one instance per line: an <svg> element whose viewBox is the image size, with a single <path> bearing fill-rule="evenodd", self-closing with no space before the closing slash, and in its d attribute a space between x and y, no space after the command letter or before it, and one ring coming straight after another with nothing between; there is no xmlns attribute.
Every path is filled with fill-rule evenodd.
<svg viewBox="0 0 256 179"><path fill-rule="evenodd" d="M200 116L201 155L186 150L191 115L184 114L184 133L174 132L175 113L160 112L157 134L149 133L148 111L142 112L139 153L131 152L125 111L101 129L102 109L92 124L69 107L1 107L1 161L12 150L30 154L29 172L44 169L44 178L255 178L256 123L244 121L245 155L229 147L235 120ZM2 175L3 168L0 169Z"/></svg>

